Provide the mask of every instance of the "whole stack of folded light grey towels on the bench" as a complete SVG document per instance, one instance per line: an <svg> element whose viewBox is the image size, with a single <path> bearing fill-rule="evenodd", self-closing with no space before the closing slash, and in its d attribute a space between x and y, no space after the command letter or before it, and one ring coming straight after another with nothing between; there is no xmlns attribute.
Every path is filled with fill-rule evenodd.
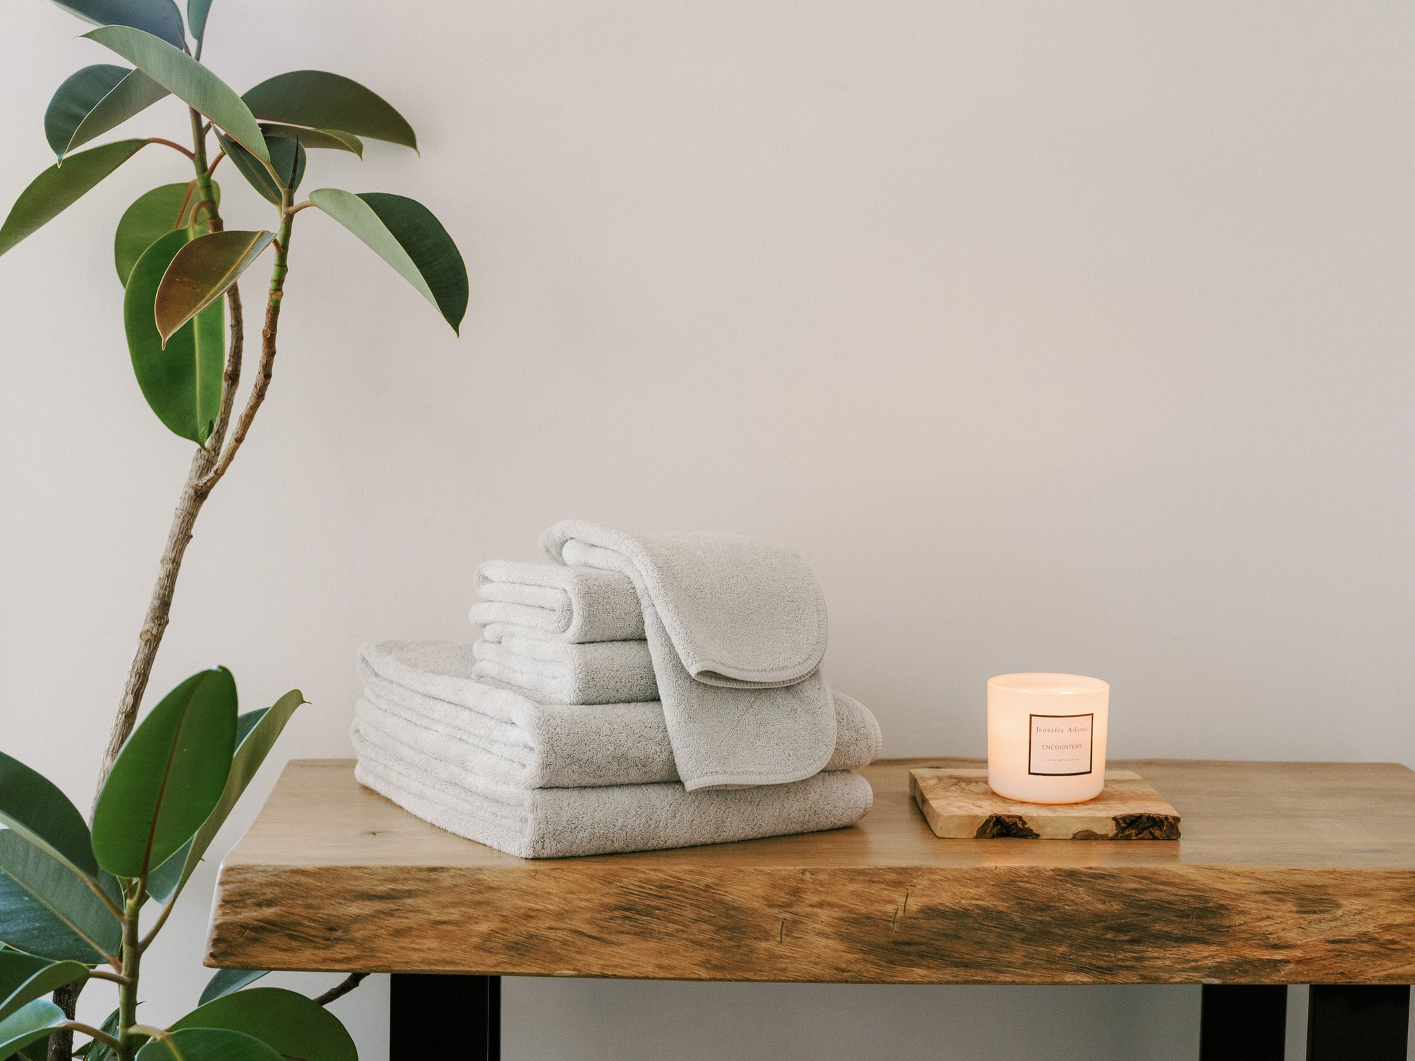
<svg viewBox="0 0 1415 1061"><path fill-rule="evenodd" d="M825 605L794 553L566 521L550 564L478 572L473 647L359 652L358 779L522 857L852 825L870 712L819 672Z"/></svg>

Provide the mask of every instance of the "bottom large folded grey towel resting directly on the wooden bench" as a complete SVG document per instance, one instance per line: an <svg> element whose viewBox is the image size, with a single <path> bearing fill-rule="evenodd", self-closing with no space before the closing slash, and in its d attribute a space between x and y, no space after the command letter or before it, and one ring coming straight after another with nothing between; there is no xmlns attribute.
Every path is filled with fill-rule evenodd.
<svg viewBox="0 0 1415 1061"><path fill-rule="evenodd" d="M522 859L607 854L839 829L870 809L859 774L688 792L679 784L505 788L369 734L354 721L354 777L426 822Z"/></svg>

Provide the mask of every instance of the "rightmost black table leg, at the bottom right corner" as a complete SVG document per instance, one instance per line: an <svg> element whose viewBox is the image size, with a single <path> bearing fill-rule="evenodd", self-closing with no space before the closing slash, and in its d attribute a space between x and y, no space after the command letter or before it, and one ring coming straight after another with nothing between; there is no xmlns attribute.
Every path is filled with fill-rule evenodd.
<svg viewBox="0 0 1415 1061"><path fill-rule="evenodd" d="M1307 1061L1405 1061L1411 989L1313 983Z"/></svg>

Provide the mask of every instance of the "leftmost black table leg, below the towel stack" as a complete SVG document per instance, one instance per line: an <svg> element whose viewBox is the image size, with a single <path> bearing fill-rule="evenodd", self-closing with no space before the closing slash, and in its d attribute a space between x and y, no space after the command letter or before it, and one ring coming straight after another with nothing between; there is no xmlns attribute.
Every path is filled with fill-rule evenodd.
<svg viewBox="0 0 1415 1061"><path fill-rule="evenodd" d="M501 1061L501 978L393 973L389 1061Z"/></svg>

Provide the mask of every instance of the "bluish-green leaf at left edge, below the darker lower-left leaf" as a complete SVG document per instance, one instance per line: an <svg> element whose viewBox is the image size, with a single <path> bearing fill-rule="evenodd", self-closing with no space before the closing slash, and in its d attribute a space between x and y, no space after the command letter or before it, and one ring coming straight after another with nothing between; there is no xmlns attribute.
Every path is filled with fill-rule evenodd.
<svg viewBox="0 0 1415 1061"><path fill-rule="evenodd" d="M88 884L13 829L0 829L0 941L16 951L100 965L123 927Z"/></svg>

